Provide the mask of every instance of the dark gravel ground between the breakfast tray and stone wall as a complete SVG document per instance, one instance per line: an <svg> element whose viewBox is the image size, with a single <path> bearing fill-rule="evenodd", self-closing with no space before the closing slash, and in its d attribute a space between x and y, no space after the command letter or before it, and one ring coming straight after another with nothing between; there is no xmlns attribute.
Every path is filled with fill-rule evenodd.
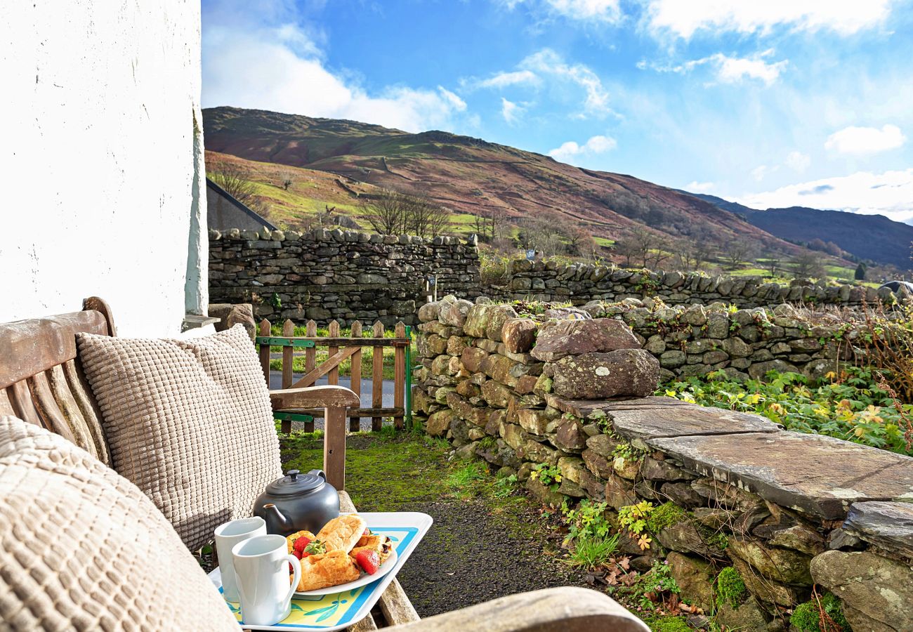
<svg viewBox="0 0 913 632"><path fill-rule="evenodd" d="M582 574L512 538L477 500L415 505L435 523L397 575L419 616L559 585L584 585Z"/></svg>

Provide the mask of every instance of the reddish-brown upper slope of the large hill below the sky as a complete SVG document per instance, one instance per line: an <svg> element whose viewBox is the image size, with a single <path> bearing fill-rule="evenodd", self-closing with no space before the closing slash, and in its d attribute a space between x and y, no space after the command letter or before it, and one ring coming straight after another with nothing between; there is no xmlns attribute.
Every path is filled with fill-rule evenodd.
<svg viewBox="0 0 913 632"><path fill-rule="evenodd" d="M539 153L448 132L407 133L356 121L269 111L204 111L206 149L337 174L355 186L423 192L455 213L509 218L559 213L597 237L649 226L673 240L794 245L740 216L630 175L580 169Z"/></svg>

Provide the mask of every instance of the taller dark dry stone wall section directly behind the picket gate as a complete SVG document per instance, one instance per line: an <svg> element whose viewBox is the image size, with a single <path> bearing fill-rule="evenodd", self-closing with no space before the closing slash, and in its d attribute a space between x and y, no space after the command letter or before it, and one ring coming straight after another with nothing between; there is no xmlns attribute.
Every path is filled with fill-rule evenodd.
<svg viewBox="0 0 913 632"><path fill-rule="evenodd" d="M210 300L252 303L257 318L411 323L429 275L440 291L477 296L477 248L338 228L209 233Z"/></svg>

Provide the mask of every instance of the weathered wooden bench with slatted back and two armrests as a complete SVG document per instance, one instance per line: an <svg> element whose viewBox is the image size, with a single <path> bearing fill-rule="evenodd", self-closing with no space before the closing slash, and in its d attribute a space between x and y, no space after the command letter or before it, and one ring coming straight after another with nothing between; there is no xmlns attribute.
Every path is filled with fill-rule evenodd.
<svg viewBox="0 0 913 632"><path fill-rule="evenodd" d="M79 366L78 332L117 335L104 300L86 299L83 311L0 324L0 415L46 427L110 466L99 406ZM359 406L358 396L341 386L311 386L272 391L270 399L274 411L325 409L323 469L340 490L341 511L355 511L344 490L345 437L346 409ZM649 632L607 595L572 587L510 595L420 620L396 579L372 615L349 629L378 627L416 632Z"/></svg>

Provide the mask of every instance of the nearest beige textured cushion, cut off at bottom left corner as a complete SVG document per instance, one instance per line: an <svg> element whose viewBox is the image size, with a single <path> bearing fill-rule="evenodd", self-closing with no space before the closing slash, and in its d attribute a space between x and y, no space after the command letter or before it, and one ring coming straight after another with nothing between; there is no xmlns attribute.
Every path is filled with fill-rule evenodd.
<svg viewBox="0 0 913 632"><path fill-rule="evenodd" d="M129 480L0 417L0 629L237 630L221 595Z"/></svg>

